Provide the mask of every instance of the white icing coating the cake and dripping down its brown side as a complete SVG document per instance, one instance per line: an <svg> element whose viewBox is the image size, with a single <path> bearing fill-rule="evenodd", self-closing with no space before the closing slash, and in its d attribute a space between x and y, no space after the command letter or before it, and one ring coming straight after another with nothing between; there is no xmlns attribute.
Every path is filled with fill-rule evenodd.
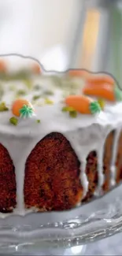
<svg viewBox="0 0 122 256"><path fill-rule="evenodd" d="M40 83L40 80L36 80L36 83ZM45 89L52 87L50 80L41 80L41 83L45 84ZM15 93L8 91L9 84L6 84L5 95L2 100L6 100L10 104ZM23 86L23 83L17 84L17 88L21 89ZM55 94L50 96L50 99L54 100L54 105L42 107L35 105L36 117L28 120L20 119L17 126L9 124L9 118L12 117L11 111L0 113L0 143L9 151L16 172L17 208L14 210L14 213L24 215L28 212L24 209L25 162L36 143L50 132L61 132L61 134L65 135L65 138L68 139L73 150L76 152L80 161L79 178L83 186L83 197L85 197L89 185L86 175L87 156L92 150L95 150L98 155L97 194L101 195L104 183L103 153L105 139L109 132L115 129L110 183L111 186L116 183L116 148L122 128L122 103L115 103L114 106L108 103L105 106L104 112L97 115L78 114L78 117L71 118L68 113L61 111L62 106L64 106L61 103L63 93L64 91L61 89L55 89ZM35 94L35 92L32 93L31 91L28 92L28 97L25 96L23 98L31 100L32 96L37 94L38 92ZM41 98L41 102L43 102L43 98ZM40 119L41 122L39 124L37 124L36 118Z"/></svg>

